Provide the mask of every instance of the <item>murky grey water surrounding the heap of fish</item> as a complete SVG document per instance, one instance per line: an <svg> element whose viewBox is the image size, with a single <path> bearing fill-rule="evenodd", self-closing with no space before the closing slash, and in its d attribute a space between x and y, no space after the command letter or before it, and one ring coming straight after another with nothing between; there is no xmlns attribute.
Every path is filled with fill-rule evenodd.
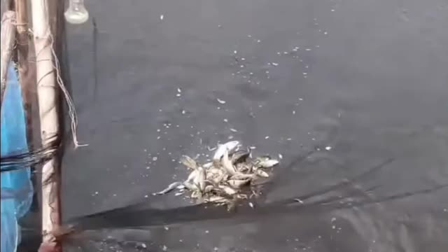
<svg viewBox="0 0 448 252"><path fill-rule="evenodd" d="M98 32L69 27L69 57L90 146L66 155L65 216L145 203L78 219L111 228L83 251L443 251L448 20L430 2L87 3ZM228 139L283 157L254 209L148 196Z"/></svg>

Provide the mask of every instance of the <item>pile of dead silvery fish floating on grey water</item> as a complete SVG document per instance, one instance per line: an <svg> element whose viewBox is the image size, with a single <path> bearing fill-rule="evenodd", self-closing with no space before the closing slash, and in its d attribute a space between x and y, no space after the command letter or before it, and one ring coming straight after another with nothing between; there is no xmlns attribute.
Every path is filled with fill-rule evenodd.
<svg viewBox="0 0 448 252"><path fill-rule="evenodd" d="M181 163L192 170L188 179L171 183L153 195L179 190L176 195L190 192L190 198L197 204L214 203L230 209L237 200L253 195L252 186L266 180L269 177L266 169L278 165L279 161L267 155L252 158L251 148L242 148L239 141L229 141L217 146L210 162L200 165L184 155Z"/></svg>

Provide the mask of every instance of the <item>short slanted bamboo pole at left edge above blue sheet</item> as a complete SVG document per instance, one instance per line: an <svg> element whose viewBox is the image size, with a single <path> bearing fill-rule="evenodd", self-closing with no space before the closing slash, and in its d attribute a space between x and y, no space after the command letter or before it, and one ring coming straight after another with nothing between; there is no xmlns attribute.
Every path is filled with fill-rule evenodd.
<svg viewBox="0 0 448 252"><path fill-rule="evenodd" d="M7 10L3 13L1 17L1 97L0 106L3 104L3 97L6 90L6 80L8 76L8 66L11 60L11 55L13 54L13 47L15 43L15 12L12 10Z"/></svg>

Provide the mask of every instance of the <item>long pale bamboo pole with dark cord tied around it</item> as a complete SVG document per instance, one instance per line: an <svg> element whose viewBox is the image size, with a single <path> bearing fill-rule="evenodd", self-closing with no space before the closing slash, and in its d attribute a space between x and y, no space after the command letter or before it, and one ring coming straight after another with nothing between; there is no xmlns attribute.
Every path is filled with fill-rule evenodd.
<svg viewBox="0 0 448 252"><path fill-rule="evenodd" d="M60 137L59 102L54 58L52 50L53 36L50 28L48 1L31 1L34 30L34 48L36 51L36 78L39 116L41 118L42 145L50 144L52 137ZM52 230L61 225L60 211L60 160L57 156L42 167L42 231L43 243L57 242ZM58 251L62 248L60 244Z"/></svg>

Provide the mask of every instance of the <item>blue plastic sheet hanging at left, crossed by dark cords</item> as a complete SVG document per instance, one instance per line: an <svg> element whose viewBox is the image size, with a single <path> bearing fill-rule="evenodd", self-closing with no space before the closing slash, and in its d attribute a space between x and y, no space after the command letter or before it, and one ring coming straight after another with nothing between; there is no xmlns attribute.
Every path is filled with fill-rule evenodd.
<svg viewBox="0 0 448 252"><path fill-rule="evenodd" d="M28 151L25 112L18 76L8 69L6 92L1 106L1 155ZM29 167L1 173L1 252L14 252L20 243L18 219L29 211L33 197Z"/></svg>

